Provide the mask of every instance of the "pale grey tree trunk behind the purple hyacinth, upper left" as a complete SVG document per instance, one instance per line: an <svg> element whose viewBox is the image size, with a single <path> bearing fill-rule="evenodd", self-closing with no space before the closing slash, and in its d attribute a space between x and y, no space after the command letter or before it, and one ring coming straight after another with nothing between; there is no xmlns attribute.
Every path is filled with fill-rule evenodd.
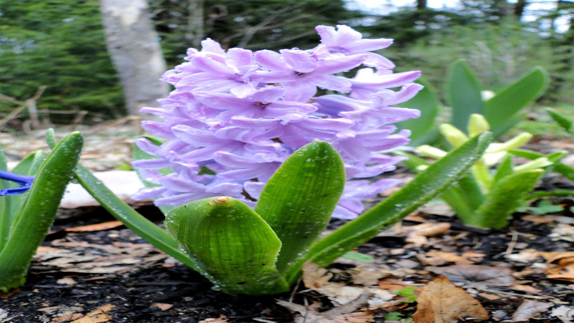
<svg viewBox="0 0 574 323"><path fill-rule="evenodd" d="M158 79L165 60L146 0L100 0L108 52L122 81L126 109L140 114L144 106L158 106L169 85Z"/></svg>

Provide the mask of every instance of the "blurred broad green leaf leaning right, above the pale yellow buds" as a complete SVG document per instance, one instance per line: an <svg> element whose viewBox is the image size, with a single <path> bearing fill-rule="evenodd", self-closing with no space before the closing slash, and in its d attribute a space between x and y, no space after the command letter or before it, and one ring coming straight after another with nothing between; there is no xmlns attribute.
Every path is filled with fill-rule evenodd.
<svg viewBox="0 0 574 323"><path fill-rule="evenodd" d="M548 72L542 67L535 67L517 82L484 102L484 116L491 129L498 128L523 107L540 97L548 85L548 80Z"/></svg>

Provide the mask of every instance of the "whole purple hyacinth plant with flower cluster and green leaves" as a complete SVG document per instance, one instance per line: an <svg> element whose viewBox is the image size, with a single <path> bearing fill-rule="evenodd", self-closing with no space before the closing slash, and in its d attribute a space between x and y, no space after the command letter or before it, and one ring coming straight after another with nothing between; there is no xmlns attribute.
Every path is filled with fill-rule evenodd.
<svg viewBox="0 0 574 323"><path fill-rule="evenodd" d="M165 228L131 209L86 168L75 178L111 214L225 293L288 291L307 262L333 260L402 220L467 174L491 141L461 144L401 190L364 212L363 201L400 183L382 178L409 143L393 124L418 110L393 107L414 97L418 71L393 73L373 53L392 43L363 39L348 26L317 26L312 49L224 51L212 40L165 73L175 90L145 107L134 166ZM361 68L361 66L366 66ZM359 68L352 78L348 71ZM396 90L390 90L397 88ZM48 132L50 144L55 143ZM353 219L320 237L331 217Z"/></svg>

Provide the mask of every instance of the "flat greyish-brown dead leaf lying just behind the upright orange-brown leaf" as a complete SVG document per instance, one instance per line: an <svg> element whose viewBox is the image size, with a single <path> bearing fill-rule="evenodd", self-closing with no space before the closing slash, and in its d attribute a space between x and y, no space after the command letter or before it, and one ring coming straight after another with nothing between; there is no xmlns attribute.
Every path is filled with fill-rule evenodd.
<svg viewBox="0 0 574 323"><path fill-rule="evenodd" d="M466 286L484 289L486 286L510 286L517 283L509 268L456 264L447 267L425 267L425 270L444 275L448 279L466 281Z"/></svg>

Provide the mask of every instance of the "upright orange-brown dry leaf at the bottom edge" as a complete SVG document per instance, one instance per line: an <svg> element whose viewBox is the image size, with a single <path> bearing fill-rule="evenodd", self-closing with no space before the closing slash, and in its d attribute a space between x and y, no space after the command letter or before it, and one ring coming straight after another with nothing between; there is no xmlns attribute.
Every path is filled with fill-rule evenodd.
<svg viewBox="0 0 574 323"><path fill-rule="evenodd" d="M479 301L442 276L422 288L417 303L413 314L416 323L451 323L464 317L488 319L488 312Z"/></svg>

